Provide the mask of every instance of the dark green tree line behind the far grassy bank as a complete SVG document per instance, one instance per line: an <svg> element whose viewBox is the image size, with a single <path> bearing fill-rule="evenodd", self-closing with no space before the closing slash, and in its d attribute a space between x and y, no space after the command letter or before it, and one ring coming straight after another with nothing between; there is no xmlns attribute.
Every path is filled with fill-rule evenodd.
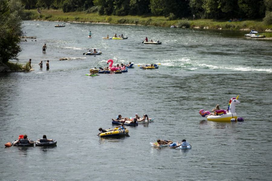
<svg viewBox="0 0 272 181"><path fill-rule="evenodd" d="M26 9L53 8L63 12L86 11L101 15L163 15L229 19L263 18L272 11L272 0L22 0Z"/></svg>

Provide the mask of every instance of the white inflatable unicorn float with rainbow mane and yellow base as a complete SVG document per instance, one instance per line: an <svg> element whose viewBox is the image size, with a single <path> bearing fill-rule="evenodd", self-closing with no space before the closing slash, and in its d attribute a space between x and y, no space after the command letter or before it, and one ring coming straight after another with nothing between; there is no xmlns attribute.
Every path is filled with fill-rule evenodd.
<svg viewBox="0 0 272 181"><path fill-rule="evenodd" d="M207 116L207 120L210 121L237 121L237 114L235 112L235 105L239 104L240 101L238 101L239 95L237 97L233 97L229 100L228 103L228 109L227 110L215 110L216 115L210 115L211 112L200 110L199 114L202 117Z"/></svg>

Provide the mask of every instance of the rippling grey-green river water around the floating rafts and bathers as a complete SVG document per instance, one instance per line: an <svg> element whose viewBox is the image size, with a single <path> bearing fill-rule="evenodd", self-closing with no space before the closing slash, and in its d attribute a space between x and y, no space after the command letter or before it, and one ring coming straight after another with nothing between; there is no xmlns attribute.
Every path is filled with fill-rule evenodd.
<svg viewBox="0 0 272 181"><path fill-rule="evenodd" d="M240 32L56 24L24 21L25 34L37 39L21 42L18 58L31 58L34 71L0 75L0 180L271 179L271 41ZM102 39L115 33L128 39ZM142 44L146 36L162 44ZM92 47L102 55L83 55ZM108 59L135 65L127 73L85 76ZM147 63L159 69L138 67ZM199 115L216 104L226 109L237 95L244 122ZM97 136L118 114L135 113L154 122L127 127L130 137ZM46 134L57 147L4 148L21 134L33 140ZM151 147L157 139L186 139L192 149Z"/></svg>

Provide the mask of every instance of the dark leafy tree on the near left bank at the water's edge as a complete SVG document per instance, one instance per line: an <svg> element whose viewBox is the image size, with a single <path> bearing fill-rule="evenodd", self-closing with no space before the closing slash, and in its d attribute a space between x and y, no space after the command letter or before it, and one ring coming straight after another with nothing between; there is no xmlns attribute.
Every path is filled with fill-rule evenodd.
<svg viewBox="0 0 272 181"><path fill-rule="evenodd" d="M22 9L18 0L0 0L0 62L17 59L21 51L18 36L22 33L22 20L18 12L22 12Z"/></svg>

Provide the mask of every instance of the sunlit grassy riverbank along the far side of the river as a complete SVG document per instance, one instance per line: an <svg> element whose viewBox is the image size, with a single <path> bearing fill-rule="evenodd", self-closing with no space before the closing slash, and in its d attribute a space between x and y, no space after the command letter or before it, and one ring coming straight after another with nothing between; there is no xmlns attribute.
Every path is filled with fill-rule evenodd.
<svg viewBox="0 0 272 181"><path fill-rule="evenodd" d="M63 13L61 10L42 10L41 14L37 10L25 10L31 20L43 21L63 21L63 22L92 22L92 23L110 23L110 24L134 24L134 25L151 25L160 27L170 27L177 25L188 28L204 28L219 30L257 30L265 32L272 30L272 25L264 25L262 20L242 20L237 22L215 21L210 19L200 20L168 20L164 16L106 16L98 14L86 14L84 12ZM272 33L267 33L272 37Z"/></svg>

